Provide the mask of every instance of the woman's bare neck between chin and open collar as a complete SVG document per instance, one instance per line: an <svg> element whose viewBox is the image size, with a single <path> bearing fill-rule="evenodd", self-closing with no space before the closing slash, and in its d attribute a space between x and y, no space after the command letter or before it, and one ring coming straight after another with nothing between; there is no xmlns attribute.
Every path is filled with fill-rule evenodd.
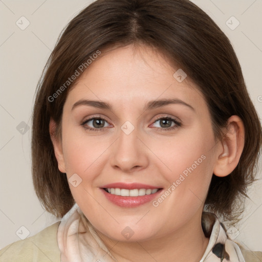
<svg viewBox="0 0 262 262"><path fill-rule="evenodd" d="M201 214L195 214L182 228L148 241L118 242L98 233L119 262L197 262L202 258L209 241L201 226Z"/></svg>

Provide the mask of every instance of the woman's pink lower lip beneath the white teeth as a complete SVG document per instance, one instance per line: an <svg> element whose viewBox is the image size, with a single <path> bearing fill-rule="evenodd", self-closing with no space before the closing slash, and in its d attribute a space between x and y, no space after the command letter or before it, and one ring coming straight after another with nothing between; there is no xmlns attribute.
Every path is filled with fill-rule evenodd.
<svg viewBox="0 0 262 262"><path fill-rule="evenodd" d="M122 197L121 195L107 193L102 188L100 189L109 201L120 207L137 207L143 205L147 202L154 200L162 191L162 189L160 189L154 194L139 195L138 197Z"/></svg>

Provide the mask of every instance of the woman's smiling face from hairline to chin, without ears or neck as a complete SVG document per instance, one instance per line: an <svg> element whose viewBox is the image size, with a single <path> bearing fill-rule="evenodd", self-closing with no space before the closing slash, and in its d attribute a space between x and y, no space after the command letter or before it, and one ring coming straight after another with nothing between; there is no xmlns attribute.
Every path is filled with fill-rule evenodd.
<svg viewBox="0 0 262 262"><path fill-rule="evenodd" d="M218 152L203 95L177 70L148 47L102 52L65 101L59 169L110 238L154 239L200 223Z"/></svg>

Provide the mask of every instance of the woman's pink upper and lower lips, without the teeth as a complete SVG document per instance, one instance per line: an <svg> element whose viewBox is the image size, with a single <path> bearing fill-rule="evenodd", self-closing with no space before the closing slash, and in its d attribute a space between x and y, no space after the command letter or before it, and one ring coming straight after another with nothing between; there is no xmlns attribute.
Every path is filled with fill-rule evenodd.
<svg viewBox="0 0 262 262"><path fill-rule="evenodd" d="M140 184L140 183L132 183L132 184L126 184L126 183L113 183L113 184L107 184L104 185L100 188L104 196L106 197L107 200L112 202L113 204L119 206L119 207L138 207L141 206L145 203L148 203L155 198L159 196L159 194L162 192L163 188L158 190L154 194L146 194L146 195L139 195L138 197L122 197L121 195L115 195L106 192L103 188L120 188L120 189L156 189L160 187L155 187L155 186L150 186L146 184Z"/></svg>

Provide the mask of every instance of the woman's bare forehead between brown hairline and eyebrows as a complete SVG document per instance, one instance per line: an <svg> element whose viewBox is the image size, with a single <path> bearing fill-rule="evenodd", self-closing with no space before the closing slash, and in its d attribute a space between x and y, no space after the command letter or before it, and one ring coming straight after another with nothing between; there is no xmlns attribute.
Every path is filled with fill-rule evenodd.
<svg viewBox="0 0 262 262"><path fill-rule="evenodd" d="M152 48L129 45L107 49L79 77L68 94L67 104L96 98L138 106L145 100L179 98L203 106L203 95L196 85L187 77L178 81L176 72L181 69L174 68L162 53Z"/></svg>

